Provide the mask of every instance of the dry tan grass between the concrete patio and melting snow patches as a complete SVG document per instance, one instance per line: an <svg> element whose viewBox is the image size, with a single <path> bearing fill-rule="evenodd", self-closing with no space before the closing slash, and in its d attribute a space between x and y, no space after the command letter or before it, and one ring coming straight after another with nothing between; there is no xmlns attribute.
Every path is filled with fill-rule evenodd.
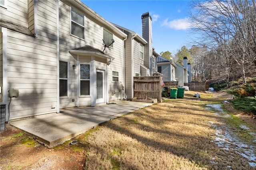
<svg viewBox="0 0 256 170"><path fill-rule="evenodd" d="M239 154L210 142L216 130L209 122L222 124L220 118L185 93L185 99L157 103L102 125L88 137L86 169L251 168Z"/></svg>

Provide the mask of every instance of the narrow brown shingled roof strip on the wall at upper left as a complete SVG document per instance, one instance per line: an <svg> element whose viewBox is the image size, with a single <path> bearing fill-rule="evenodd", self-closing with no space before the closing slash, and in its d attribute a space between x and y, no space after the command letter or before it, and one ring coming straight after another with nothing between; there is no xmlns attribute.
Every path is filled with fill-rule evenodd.
<svg viewBox="0 0 256 170"><path fill-rule="evenodd" d="M26 27L14 24L13 22L0 19L0 26L4 28L8 28L9 30L13 30L22 34L25 34L27 36L35 37L34 34Z"/></svg>

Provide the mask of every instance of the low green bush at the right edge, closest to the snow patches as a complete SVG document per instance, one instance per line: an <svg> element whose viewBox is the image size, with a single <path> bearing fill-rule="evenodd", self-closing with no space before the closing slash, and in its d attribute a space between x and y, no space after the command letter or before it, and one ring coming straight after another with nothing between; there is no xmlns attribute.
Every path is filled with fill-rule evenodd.
<svg viewBox="0 0 256 170"><path fill-rule="evenodd" d="M235 98L234 101L230 102L235 109L256 115L256 96Z"/></svg>

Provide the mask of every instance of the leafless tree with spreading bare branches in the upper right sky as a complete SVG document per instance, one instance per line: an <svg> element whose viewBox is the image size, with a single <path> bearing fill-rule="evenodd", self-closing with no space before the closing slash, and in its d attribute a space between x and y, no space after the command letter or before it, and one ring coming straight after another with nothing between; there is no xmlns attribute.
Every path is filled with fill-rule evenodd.
<svg viewBox="0 0 256 170"><path fill-rule="evenodd" d="M219 61L225 65L227 86L230 69L236 70L246 83L245 70L256 63L255 0L194 1L190 19L192 33L199 35L196 43L220 55ZM230 65L230 59L236 64Z"/></svg>

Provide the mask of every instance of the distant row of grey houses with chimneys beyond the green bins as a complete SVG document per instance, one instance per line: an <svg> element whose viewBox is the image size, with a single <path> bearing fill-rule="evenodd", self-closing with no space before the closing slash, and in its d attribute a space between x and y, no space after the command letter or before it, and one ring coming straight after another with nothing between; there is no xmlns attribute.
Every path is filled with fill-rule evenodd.
<svg viewBox="0 0 256 170"><path fill-rule="evenodd" d="M172 62L164 57L158 57L158 72L163 74L164 81L178 81L180 87L184 83L191 82L190 63L187 63L187 57L183 58L183 66Z"/></svg>

